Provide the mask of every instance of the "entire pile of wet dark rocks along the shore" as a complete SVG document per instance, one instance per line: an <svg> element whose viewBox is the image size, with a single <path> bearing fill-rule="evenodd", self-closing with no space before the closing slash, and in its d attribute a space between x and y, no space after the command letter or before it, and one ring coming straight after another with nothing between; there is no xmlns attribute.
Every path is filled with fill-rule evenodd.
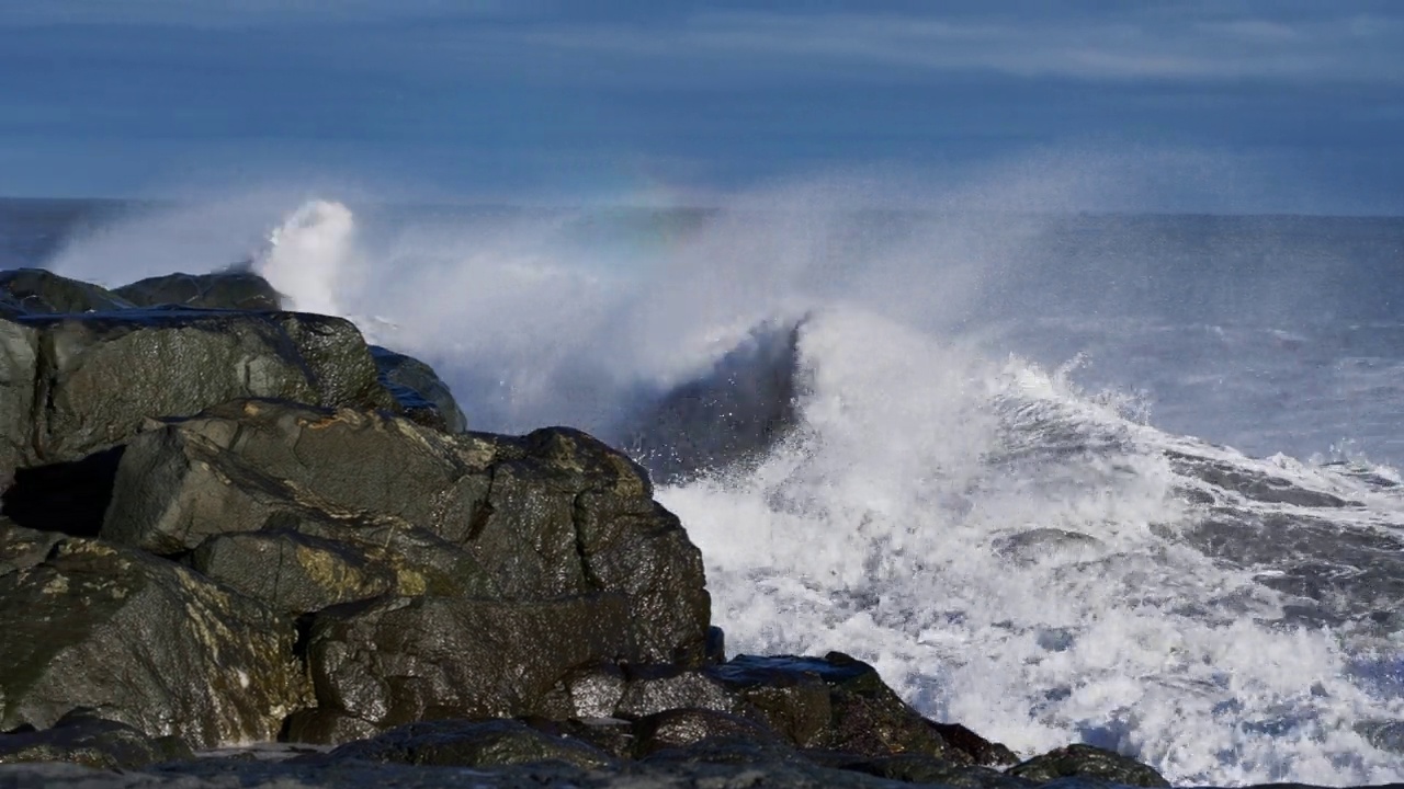
<svg viewBox="0 0 1404 789"><path fill-rule="evenodd" d="M249 272L0 274L0 786L1168 785L727 656L644 468L463 406Z"/></svg>

